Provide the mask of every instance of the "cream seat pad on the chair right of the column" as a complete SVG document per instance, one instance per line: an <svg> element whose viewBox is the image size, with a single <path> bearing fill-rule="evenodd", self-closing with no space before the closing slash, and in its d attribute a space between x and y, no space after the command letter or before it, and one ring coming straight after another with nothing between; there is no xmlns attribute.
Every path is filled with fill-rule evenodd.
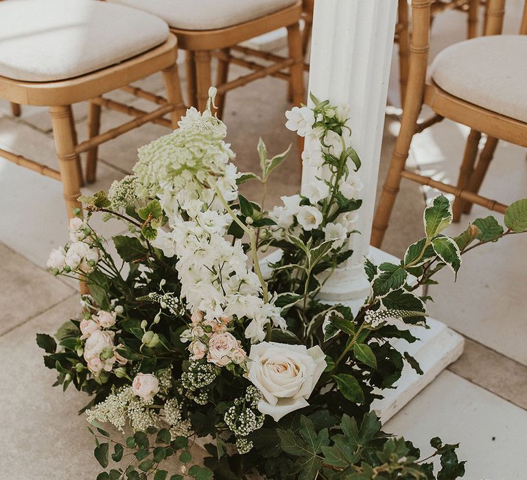
<svg viewBox="0 0 527 480"><path fill-rule="evenodd" d="M430 75L454 97L527 122L527 35L472 38L447 47Z"/></svg>

